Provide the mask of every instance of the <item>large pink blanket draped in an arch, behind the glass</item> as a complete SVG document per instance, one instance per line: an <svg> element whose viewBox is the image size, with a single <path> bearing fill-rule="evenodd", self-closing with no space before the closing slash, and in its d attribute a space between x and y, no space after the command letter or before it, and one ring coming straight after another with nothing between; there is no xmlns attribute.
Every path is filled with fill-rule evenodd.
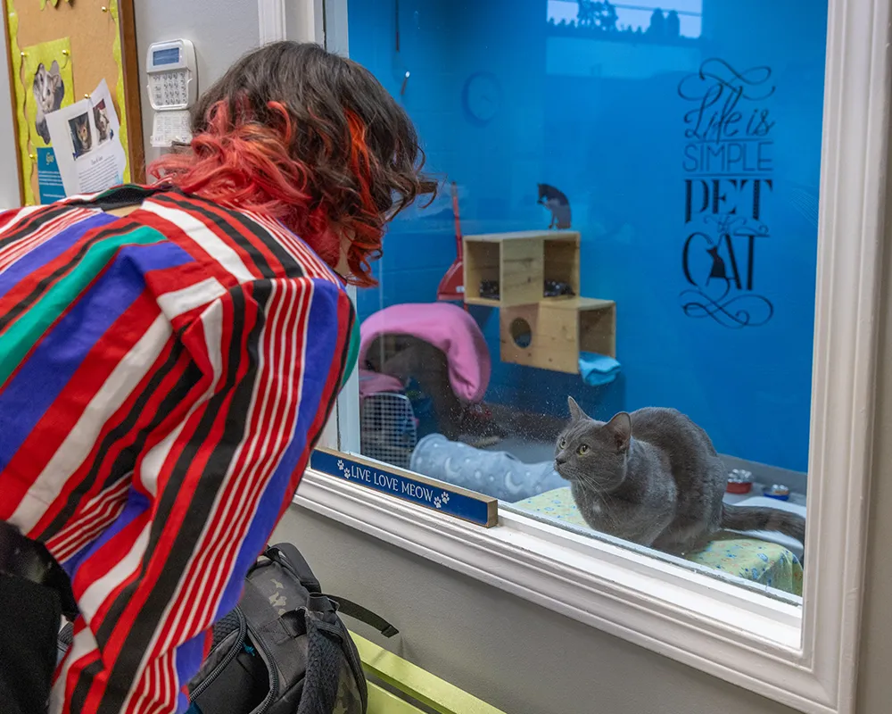
<svg viewBox="0 0 892 714"><path fill-rule="evenodd" d="M465 403L483 400L490 384L490 351L483 332L466 311L450 303L391 305L359 327L359 364L368 347L383 335L410 335L442 350L449 361L452 391Z"/></svg>

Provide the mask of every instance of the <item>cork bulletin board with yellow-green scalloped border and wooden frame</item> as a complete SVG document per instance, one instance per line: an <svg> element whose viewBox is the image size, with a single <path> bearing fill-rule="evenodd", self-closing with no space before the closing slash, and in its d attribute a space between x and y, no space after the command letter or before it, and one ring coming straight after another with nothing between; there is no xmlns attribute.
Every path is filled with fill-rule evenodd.
<svg viewBox="0 0 892 714"><path fill-rule="evenodd" d="M120 141L127 154L124 181L145 181L133 0L0 2L10 55L22 202L47 203L61 190L53 186L54 155L43 112L83 99L102 79L120 120Z"/></svg>

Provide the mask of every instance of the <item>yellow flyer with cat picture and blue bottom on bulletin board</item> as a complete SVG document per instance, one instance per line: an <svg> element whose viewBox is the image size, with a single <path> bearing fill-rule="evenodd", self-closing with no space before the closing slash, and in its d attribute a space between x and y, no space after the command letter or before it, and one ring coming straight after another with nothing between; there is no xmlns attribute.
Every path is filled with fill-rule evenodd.
<svg viewBox="0 0 892 714"><path fill-rule="evenodd" d="M68 37L62 37L25 47L21 54L25 125L19 129L19 141L23 153L37 159L40 203L53 203L65 197L65 189L46 128L46 115L74 102L71 44Z"/></svg>

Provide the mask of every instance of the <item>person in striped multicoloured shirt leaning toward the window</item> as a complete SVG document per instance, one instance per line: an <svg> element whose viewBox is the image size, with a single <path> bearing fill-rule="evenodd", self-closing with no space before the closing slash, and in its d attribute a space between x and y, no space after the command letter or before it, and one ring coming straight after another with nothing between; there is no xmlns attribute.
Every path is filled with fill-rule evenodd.
<svg viewBox="0 0 892 714"><path fill-rule="evenodd" d="M152 186L0 214L4 714L186 710L355 361L345 285L433 190L318 46L248 54L193 129Z"/></svg>

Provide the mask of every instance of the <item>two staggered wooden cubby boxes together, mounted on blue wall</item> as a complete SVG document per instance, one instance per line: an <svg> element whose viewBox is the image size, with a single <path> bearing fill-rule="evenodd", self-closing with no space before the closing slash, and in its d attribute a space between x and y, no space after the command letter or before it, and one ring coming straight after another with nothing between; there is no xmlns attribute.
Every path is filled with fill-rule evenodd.
<svg viewBox="0 0 892 714"><path fill-rule="evenodd" d="M579 353L616 356L616 303L579 295L579 233L464 237L465 302L499 308L500 359L577 374ZM573 295L545 296L546 283Z"/></svg>

